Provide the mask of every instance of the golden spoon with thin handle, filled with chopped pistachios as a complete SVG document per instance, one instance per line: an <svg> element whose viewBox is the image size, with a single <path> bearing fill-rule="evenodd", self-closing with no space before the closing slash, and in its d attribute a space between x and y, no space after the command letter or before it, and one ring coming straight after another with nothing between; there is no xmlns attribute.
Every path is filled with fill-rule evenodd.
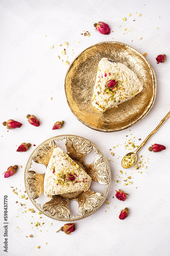
<svg viewBox="0 0 170 256"><path fill-rule="evenodd" d="M138 151L145 145L145 143L149 140L149 138L158 130L158 128L166 121L166 119L170 116L170 111L167 113L167 115L161 120L161 122L156 126L156 128L148 135L148 137L140 144L140 146L134 151L129 152L126 154L121 162L121 165L123 168L130 168L134 164L136 164L137 161L137 153Z"/></svg>

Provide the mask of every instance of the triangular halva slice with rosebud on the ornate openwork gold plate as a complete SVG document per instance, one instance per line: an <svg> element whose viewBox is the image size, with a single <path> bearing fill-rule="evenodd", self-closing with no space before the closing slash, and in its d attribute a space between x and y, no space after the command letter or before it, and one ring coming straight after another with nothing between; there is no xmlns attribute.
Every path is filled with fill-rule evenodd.
<svg viewBox="0 0 170 256"><path fill-rule="evenodd" d="M85 191L90 184L91 177L61 148L54 148L45 172L44 195Z"/></svg>

